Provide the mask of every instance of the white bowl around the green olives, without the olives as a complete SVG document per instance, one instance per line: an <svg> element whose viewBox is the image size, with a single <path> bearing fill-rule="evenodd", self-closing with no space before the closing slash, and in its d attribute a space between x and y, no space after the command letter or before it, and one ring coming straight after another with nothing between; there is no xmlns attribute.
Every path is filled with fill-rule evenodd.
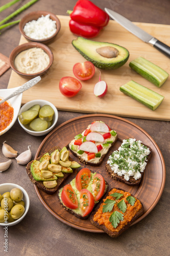
<svg viewBox="0 0 170 256"><path fill-rule="evenodd" d="M13 226L13 225L16 225L18 224L21 220L23 220L23 218L25 218L28 210L29 210L29 207L30 207L30 199L29 199L29 196L26 192L26 190L17 185L17 184L13 184L13 183L3 183L3 184L0 184L0 194L3 195L4 193L6 192L10 192L12 188L20 188L22 190L22 193L23 193L23 201L25 202L25 212L24 214L16 221L13 221L13 222L8 222L8 223L1 223L0 222L0 226Z"/></svg>

